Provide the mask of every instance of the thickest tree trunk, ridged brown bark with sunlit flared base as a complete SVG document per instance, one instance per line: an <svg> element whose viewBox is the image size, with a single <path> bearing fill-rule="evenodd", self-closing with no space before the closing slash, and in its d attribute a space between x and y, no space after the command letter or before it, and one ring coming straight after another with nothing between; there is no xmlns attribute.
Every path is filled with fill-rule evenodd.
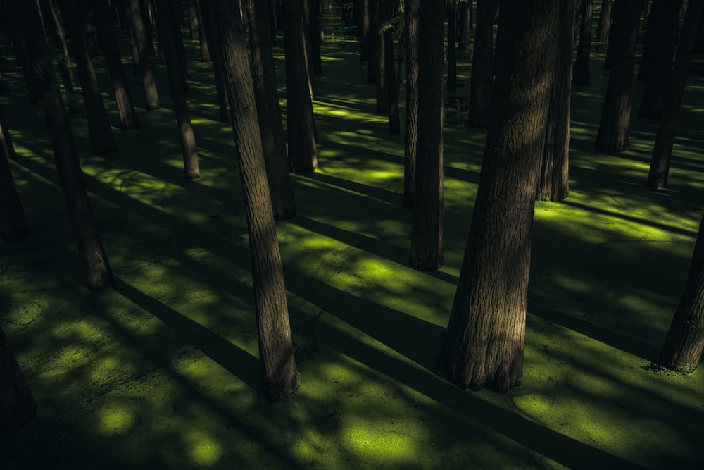
<svg viewBox="0 0 704 470"><path fill-rule="evenodd" d="M522 381L531 231L562 0L502 0L496 92L470 234L439 365L461 388ZM562 40L562 39L560 39Z"/></svg>

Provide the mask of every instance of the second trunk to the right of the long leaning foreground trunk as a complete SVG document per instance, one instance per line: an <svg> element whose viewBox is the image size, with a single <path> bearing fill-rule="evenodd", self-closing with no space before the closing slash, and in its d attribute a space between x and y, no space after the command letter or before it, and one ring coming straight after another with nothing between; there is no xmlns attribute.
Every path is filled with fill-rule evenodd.
<svg viewBox="0 0 704 470"><path fill-rule="evenodd" d="M286 120L289 166L296 173L318 168L315 147L313 102L310 100L306 38L303 34L302 0L284 1L284 44L286 62Z"/></svg>

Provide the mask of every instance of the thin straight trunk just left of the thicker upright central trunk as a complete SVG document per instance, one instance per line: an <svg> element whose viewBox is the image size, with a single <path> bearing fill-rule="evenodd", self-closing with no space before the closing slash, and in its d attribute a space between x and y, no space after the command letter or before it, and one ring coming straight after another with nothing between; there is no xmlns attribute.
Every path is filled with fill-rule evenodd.
<svg viewBox="0 0 704 470"><path fill-rule="evenodd" d="M420 0L406 0L406 131L403 150L403 205L413 207L415 156L418 138L418 8Z"/></svg>

